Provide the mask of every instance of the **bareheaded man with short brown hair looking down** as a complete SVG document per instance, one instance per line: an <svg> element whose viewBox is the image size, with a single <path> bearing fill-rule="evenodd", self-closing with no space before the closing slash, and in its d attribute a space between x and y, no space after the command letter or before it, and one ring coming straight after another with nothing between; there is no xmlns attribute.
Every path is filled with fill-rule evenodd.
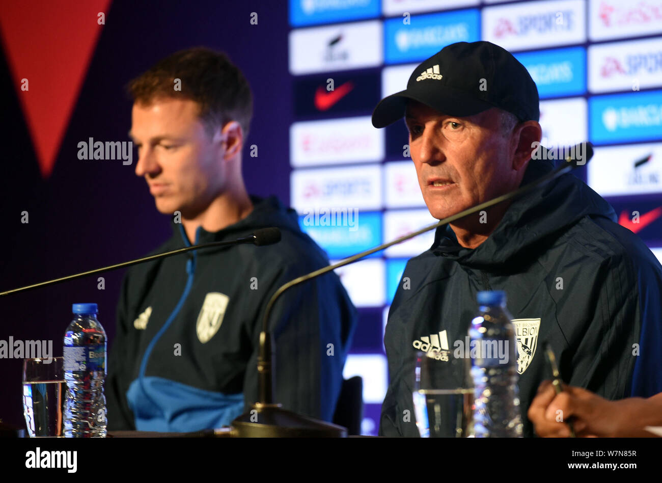
<svg viewBox="0 0 662 483"><path fill-rule="evenodd" d="M109 429L221 427L257 400L258 339L269 297L328 260L299 229L293 209L246 192L242 148L252 94L224 54L177 52L128 88L136 175L145 178L158 211L173 218L172 237L155 252L232 241L264 227L281 231L271 246L196 250L140 264L122 284L106 383ZM331 421L354 306L335 274L282 298L270 321L275 399Z"/></svg>

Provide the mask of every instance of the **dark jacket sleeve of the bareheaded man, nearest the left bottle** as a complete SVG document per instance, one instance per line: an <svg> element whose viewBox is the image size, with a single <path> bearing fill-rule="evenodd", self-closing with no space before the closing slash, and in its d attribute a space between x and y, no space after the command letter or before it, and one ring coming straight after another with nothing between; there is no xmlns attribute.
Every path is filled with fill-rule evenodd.
<svg viewBox="0 0 662 483"><path fill-rule="evenodd" d="M108 356L108 374L105 382L108 429L111 431L135 431L132 411L126 402L126 391L131 382L134 356L130 354L130 321L127 319L128 273L122 280L120 299L117 303L115 340Z"/></svg>

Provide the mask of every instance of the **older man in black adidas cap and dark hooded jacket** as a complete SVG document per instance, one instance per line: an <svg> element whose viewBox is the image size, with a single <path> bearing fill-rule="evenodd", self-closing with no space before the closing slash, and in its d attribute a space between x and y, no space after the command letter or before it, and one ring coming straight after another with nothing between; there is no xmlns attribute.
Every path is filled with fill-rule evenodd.
<svg viewBox="0 0 662 483"><path fill-rule="evenodd" d="M534 153L538 103L536 84L509 52L458 42L383 99L373 125L404 116L424 200L442 219L553 170ZM655 256L571 174L440 227L430 250L408 261L389 311L390 382L379 433L418 436L416 352L435 350L439 363L461 356L481 290L508 297L525 436L533 434L528 406L549 377L545 341L567 384L610 400L662 392L661 289Z"/></svg>

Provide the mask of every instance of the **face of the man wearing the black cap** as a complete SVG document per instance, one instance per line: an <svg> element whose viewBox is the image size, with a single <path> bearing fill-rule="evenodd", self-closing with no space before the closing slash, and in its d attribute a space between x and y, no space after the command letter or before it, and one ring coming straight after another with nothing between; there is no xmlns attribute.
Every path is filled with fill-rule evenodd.
<svg viewBox="0 0 662 483"><path fill-rule="evenodd" d="M418 183L433 217L455 215L516 188L514 146L502 134L498 109L453 117L410 101L405 121Z"/></svg>

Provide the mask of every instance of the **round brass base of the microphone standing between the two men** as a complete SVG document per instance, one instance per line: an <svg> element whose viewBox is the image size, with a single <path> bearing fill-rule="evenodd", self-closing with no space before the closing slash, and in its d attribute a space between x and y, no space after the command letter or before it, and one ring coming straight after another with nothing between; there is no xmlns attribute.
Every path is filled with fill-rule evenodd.
<svg viewBox="0 0 662 483"><path fill-rule="evenodd" d="M346 438L347 429L288 411L280 404L255 403L232 421L230 437Z"/></svg>

